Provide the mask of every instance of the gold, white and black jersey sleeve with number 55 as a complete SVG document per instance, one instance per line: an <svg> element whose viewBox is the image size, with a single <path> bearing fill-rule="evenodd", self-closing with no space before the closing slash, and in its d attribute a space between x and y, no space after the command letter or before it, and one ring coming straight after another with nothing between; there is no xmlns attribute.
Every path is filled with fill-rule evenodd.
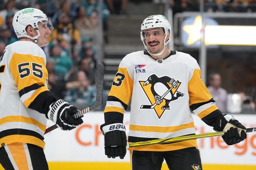
<svg viewBox="0 0 256 170"><path fill-rule="evenodd" d="M20 100L26 107L45 114L56 99L47 87L44 57L13 53L9 66Z"/></svg>

